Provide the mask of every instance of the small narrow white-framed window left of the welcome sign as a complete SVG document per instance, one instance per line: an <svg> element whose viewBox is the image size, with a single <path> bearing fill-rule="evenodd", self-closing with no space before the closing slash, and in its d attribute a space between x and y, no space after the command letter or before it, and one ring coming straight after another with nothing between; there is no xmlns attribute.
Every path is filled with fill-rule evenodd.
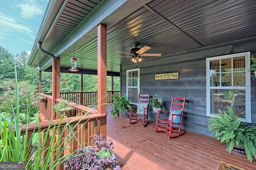
<svg viewBox="0 0 256 170"><path fill-rule="evenodd" d="M138 102L140 93L140 68L126 70L126 96L131 103Z"/></svg>

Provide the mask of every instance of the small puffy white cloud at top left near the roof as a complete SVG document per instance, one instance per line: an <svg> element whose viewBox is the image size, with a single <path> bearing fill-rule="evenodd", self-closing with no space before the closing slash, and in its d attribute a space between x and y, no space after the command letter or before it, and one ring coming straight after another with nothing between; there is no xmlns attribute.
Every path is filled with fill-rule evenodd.
<svg viewBox="0 0 256 170"><path fill-rule="evenodd" d="M43 14L43 10L40 8L38 4L20 4L18 5L20 8L20 16L24 19L30 19L33 18L34 16L40 16Z"/></svg>

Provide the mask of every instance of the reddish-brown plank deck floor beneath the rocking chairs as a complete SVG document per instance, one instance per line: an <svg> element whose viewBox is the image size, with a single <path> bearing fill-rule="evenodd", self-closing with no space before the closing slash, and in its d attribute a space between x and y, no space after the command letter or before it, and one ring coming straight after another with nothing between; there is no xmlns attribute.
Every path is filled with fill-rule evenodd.
<svg viewBox="0 0 256 170"><path fill-rule="evenodd" d="M108 113L111 107L108 106ZM128 117L107 116L107 136L116 145L117 164L123 170L216 170L225 161L246 170L256 170L256 160L226 151L214 137L186 131L176 139L167 133L156 133L152 122L129 124Z"/></svg>

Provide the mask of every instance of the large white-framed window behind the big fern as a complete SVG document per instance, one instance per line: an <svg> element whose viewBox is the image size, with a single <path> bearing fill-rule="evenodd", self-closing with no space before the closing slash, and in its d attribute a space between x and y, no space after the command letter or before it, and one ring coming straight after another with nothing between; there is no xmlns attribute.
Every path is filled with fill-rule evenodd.
<svg viewBox="0 0 256 170"><path fill-rule="evenodd" d="M207 116L216 117L218 109L251 122L250 52L206 59Z"/></svg>

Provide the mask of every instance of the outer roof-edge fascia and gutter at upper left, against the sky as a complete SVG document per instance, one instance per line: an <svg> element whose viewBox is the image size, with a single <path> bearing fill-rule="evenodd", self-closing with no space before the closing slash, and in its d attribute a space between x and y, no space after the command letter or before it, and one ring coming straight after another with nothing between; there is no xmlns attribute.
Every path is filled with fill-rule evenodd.
<svg viewBox="0 0 256 170"><path fill-rule="evenodd" d="M65 4L68 2L68 0L50 0L48 3L48 6L46 8L46 11L44 13L44 17L42 20L42 23L40 25L38 34L36 36L36 40L34 42L31 55L28 59L28 65L32 65L34 61L34 57L38 53L37 49L37 42L42 42L44 38L50 33L50 30L52 30L52 25L54 25L54 21L57 20L59 17L61 9L65 6Z"/></svg>

